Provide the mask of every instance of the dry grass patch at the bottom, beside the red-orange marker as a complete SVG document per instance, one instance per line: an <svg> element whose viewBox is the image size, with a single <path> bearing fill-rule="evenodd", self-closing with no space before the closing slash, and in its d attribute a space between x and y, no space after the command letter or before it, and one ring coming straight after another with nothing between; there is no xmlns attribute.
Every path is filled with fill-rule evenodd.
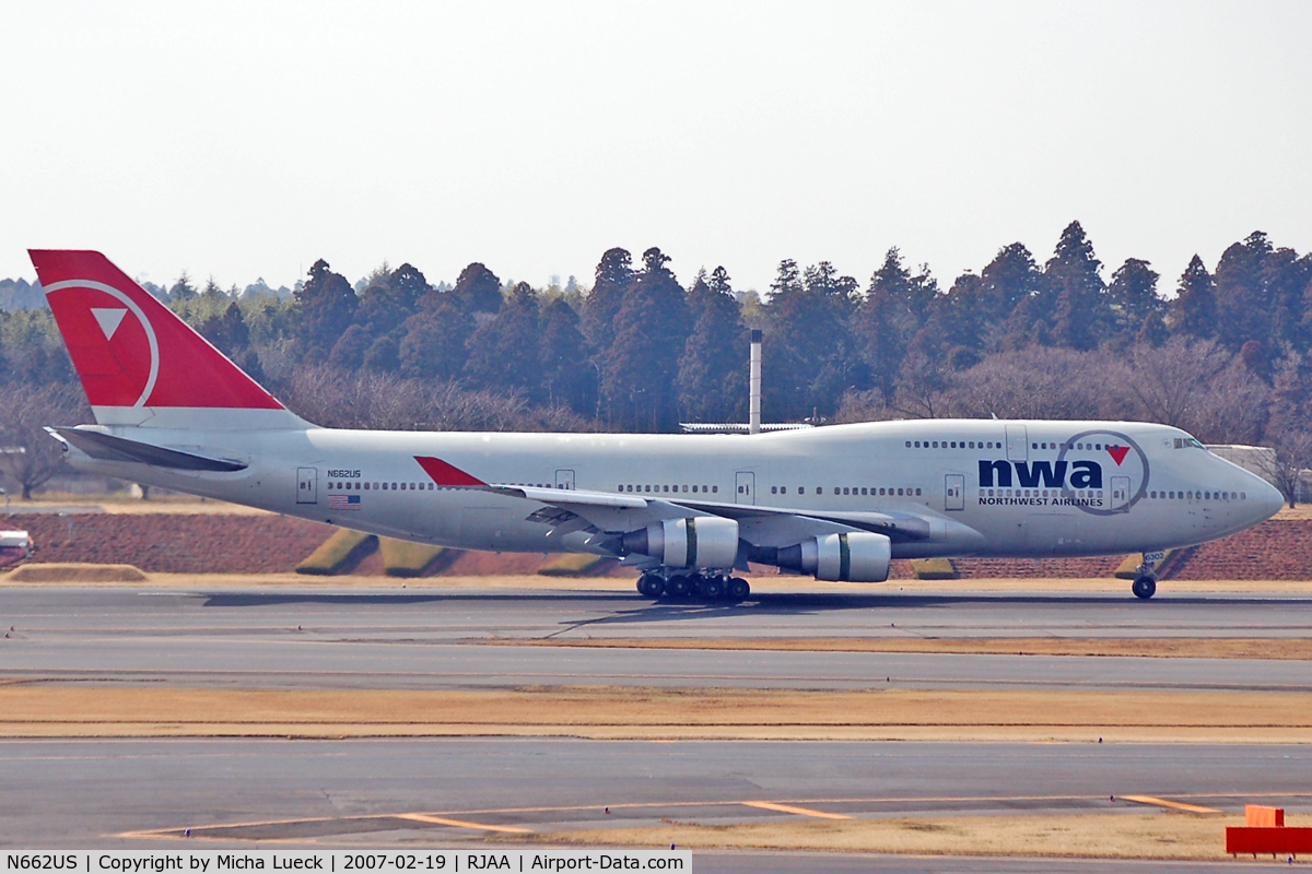
<svg viewBox="0 0 1312 874"><path fill-rule="evenodd" d="M1292 822L1290 826L1300 823ZM1304 820L1312 820L1304 816ZM655 828L539 832L534 844L685 849L821 850L929 856L1228 860L1225 827L1242 816L1166 812L916 819L773 820L743 826L670 823Z"/></svg>

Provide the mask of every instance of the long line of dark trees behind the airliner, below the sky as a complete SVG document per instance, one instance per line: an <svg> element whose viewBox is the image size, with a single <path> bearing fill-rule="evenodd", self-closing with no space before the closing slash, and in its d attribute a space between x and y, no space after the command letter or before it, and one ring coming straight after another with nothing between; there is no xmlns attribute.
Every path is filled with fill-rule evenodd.
<svg viewBox="0 0 1312 874"><path fill-rule="evenodd" d="M1044 262L1013 242L947 288L896 248L866 283L785 259L764 297L724 267L685 284L660 249L615 248L590 288L502 282L483 263L454 286L409 263L353 286L318 261L290 295L197 290L185 274L150 291L323 425L741 422L760 328L766 421L1148 419L1312 463L1312 256L1261 232L1214 270L1195 256L1169 295L1139 258L1109 275L1077 221ZM0 383L45 392L66 419L84 404L49 311L0 313Z"/></svg>

